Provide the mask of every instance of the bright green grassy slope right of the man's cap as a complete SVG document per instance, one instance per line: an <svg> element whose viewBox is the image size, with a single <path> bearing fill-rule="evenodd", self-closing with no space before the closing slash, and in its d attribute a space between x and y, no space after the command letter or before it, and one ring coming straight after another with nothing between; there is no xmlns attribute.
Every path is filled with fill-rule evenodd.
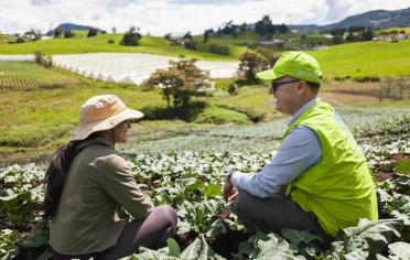
<svg viewBox="0 0 410 260"><path fill-rule="evenodd" d="M410 74L410 41L348 43L308 53L317 58L326 78Z"/></svg>

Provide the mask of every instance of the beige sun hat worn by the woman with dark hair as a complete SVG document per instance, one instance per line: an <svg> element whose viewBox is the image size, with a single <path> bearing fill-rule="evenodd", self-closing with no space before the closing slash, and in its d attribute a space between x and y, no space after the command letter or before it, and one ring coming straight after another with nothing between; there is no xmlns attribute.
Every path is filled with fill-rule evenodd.
<svg viewBox="0 0 410 260"><path fill-rule="evenodd" d="M72 136L72 141L84 140L93 132L108 130L125 120L142 117L142 112L127 108L115 95L91 97L79 108L79 126Z"/></svg>

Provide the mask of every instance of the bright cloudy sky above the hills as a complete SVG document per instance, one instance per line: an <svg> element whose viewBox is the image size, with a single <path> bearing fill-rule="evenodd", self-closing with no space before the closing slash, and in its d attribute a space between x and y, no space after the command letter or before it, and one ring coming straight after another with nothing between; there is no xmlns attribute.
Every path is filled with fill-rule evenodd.
<svg viewBox="0 0 410 260"><path fill-rule="evenodd" d="M0 0L0 32L34 28L45 33L71 22L107 32L136 26L151 35L199 34L230 20L255 23L266 14L273 23L324 25L371 10L409 7L410 0Z"/></svg>

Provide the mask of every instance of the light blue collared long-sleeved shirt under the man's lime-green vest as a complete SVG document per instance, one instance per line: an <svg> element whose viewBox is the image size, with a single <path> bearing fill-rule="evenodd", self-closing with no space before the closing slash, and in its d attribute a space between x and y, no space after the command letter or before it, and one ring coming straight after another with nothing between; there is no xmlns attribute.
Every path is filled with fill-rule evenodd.
<svg viewBox="0 0 410 260"><path fill-rule="evenodd" d="M303 105L289 120L293 123L316 98ZM271 197L280 188L296 178L302 172L319 163L322 159L322 145L316 132L309 127L292 128L283 139L277 154L259 173L235 172L231 175L234 186L245 189L257 197Z"/></svg>

